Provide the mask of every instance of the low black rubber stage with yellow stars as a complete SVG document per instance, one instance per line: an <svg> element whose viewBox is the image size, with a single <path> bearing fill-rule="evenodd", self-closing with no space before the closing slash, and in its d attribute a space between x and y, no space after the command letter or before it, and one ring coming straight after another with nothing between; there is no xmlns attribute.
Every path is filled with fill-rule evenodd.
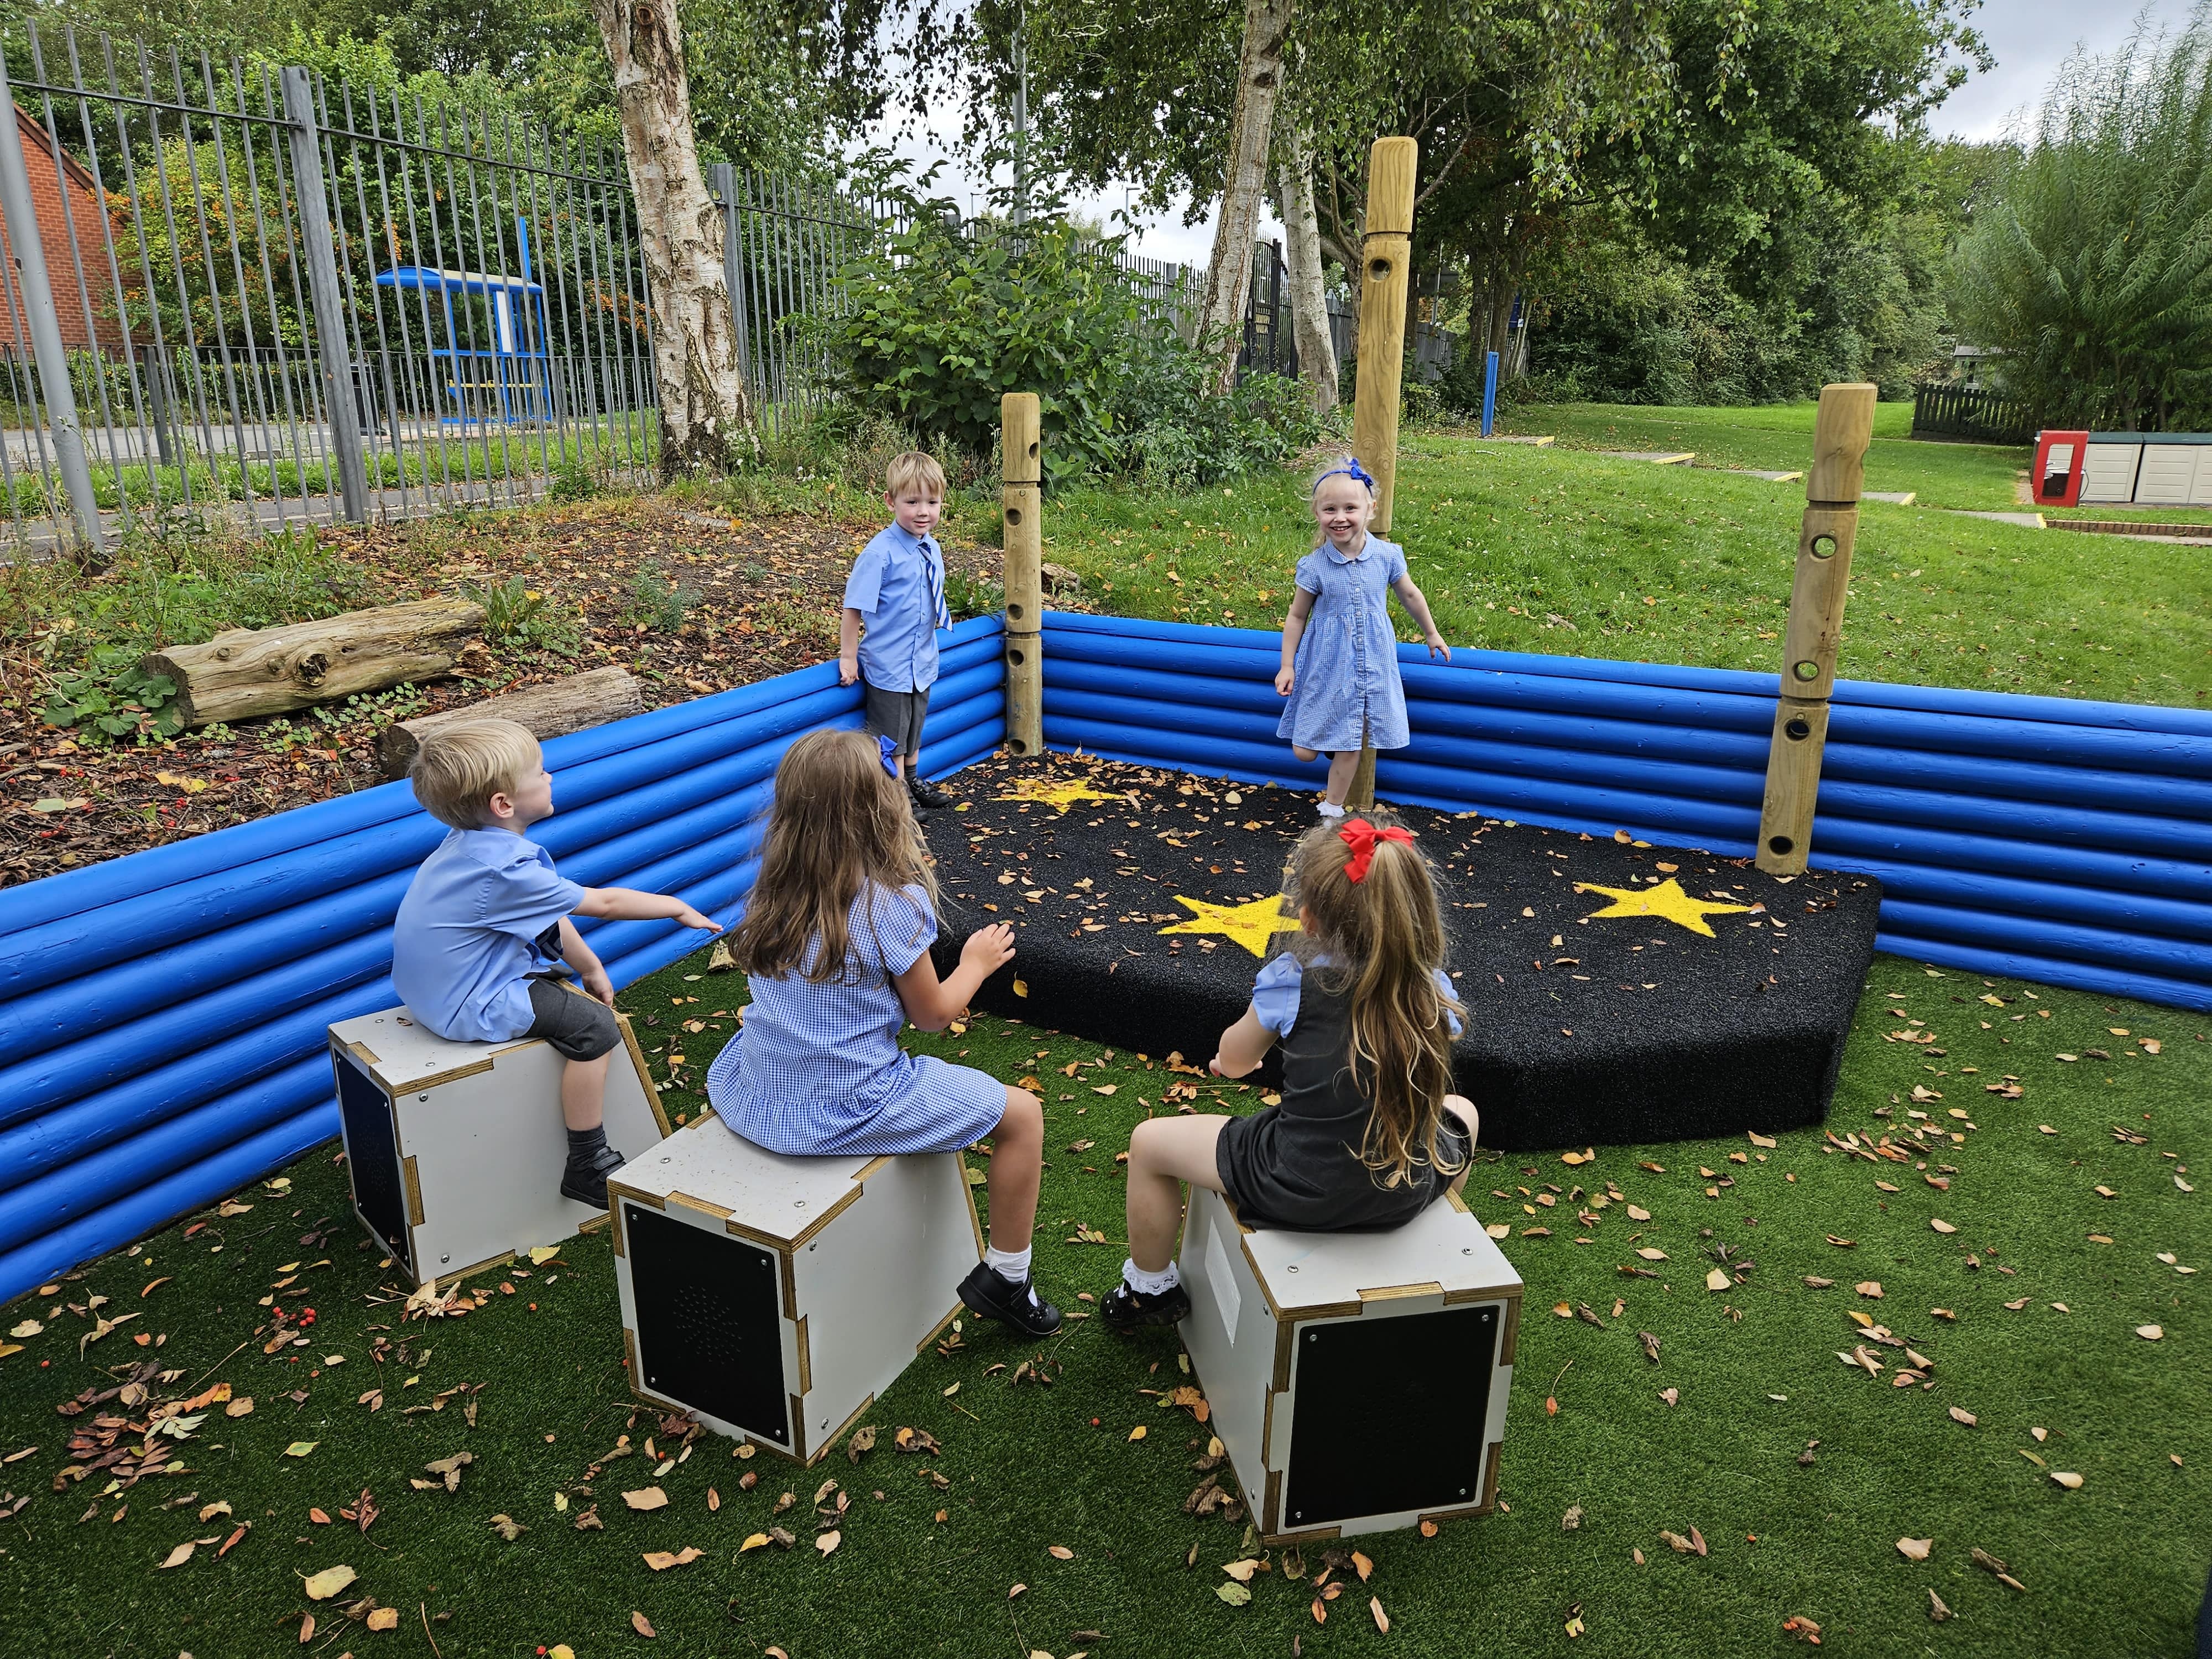
<svg viewBox="0 0 2212 1659"><path fill-rule="evenodd" d="M962 805L925 816L938 969L973 929L1013 922L1018 956L978 1006L1203 1066L1250 1002L1316 796L1068 757L984 761L949 787ZM1876 880L1765 876L1471 812L1400 821L1444 898L1469 1006L1455 1068L1484 1146L1772 1135L1827 1115L1874 960ZM1637 914L1648 905L1686 920Z"/></svg>

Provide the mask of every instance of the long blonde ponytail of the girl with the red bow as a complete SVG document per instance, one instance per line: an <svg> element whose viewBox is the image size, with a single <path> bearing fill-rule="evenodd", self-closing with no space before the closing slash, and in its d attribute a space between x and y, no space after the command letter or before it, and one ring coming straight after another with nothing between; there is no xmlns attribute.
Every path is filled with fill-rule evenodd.
<svg viewBox="0 0 2212 1659"><path fill-rule="evenodd" d="M1444 918L1429 863L1405 841L1376 841L1367 874L1352 880L1352 847L1340 830L1365 818L1378 830L1387 812L1360 812L1307 830L1292 852L1292 905L1310 920L1301 956L1329 991L1352 995L1352 1075L1371 1102L1360 1161L1385 1186L1411 1179L1413 1164L1458 1175L1464 1161L1438 1152L1438 1119L1451 1093L1451 1022L1464 1006L1438 987L1444 967Z"/></svg>

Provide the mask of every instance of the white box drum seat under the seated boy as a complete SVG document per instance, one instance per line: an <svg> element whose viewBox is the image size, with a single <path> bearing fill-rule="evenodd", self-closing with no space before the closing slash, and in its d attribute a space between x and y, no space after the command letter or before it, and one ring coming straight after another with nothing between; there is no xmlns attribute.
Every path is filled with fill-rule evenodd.
<svg viewBox="0 0 2212 1659"><path fill-rule="evenodd" d="M668 1135L668 1117L628 1018L617 1020L606 1144L637 1157ZM568 1062L549 1042L449 1042L407 1009L387 1009L330 1026L330 1064L354 1212L416 1285L555 1243L606 1214L560 1192Z"/></svg>

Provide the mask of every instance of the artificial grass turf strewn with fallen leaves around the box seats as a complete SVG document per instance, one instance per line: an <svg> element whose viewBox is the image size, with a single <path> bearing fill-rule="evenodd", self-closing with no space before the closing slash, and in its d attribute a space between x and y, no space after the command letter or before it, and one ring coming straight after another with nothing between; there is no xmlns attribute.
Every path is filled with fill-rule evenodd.
<svg viewBox="0 0 2212 1659"><path fill-rule="evenodd" d="M1989 1006L1982 995L2006 1002ZM624 993L628 1009L657 1022L641 1031L659 1051L655 1071L668 1048L684 1053L679 1086L668 1093L672 1110L701 1110L697 1082L741 1000L743 982L706 973L703 956ZM684 1031L690 1020L701 1031ZM507 1274L513 1296L500 1294L500 1274L478 1274L471 1283L491 1294L462 1318L403 1321L389 1274L376 1270L374 1252L356 1248L336 1148L323 1148L292 1166L288 1190L248 1188L241 1199L252 1210L192 1217L144 1252L95 1263L58 1296L7 1310L0 1329L22 1318L46 1329L18 1338L22 1352L0 1358L0 1455L35 1447L0 1464L0 1491L31 1495L0 1537L0 1650L155 1659L179 1650L201 1659L301 1652L299 1621L310 1606L301 1575L349 1564L358 1586L319 1604L319 1632L305 1652L429 1655L422 1617L447 1613L429 1626L447 1659L531 1655L557 1641L580 1659L734 1659L770 1644L792 1659L1281 1655L1292 1637L1303 1637L1307 1655L1759 1655L1794 1650L1783 1635L1792 1615L1816 1619L1823 1646L1838 1652L2183 1655L2212 1557L2203 1493L2212 1367L2199 1323L2203 1276L2181 1276L2157 1252L2172 1252L2179 1265L2212 1265L2205 1194L2174 1183L2179 1175L2201 1188L2185 1170L2212 1157L2208 1024L1876 958L1829 1128L1898 1139L1907 1110L1929 1110L1949 1150L1929 1148L1924 1172L1823 1150L1818 1130L1787 1133L1765 1152L1732 1139L1608 1148L1595 1168L1551 1157L1480 1166L1469 1197L1484 1221L1513 1225L1502 1248L1528 1283L1500 1484L1506 1511L1447 1524L1436 1540L1365 1540L1376 1575L1329 1604L1325 1626L1307 1610L1310 1577L1287 1584L1279 1557L1252 1579L1250 1606L1214 1595L1225 1582L1221 1564L1241 1555L1243 1524L1181 1513L1199 1482L1190 1462L1203 1451L1190 1442L1203 1429L1139 1391L1179 1380L1172 1332L1121 1340L1071 1323L1051 1343L1015 1343L969 1323L956 1354L920 1358L874 1413L885 1429L929 1429L945 1442L940 1458L878 1447L858 1467L832 1453L799 1471L765 1453L734 1462L726 1442L708 1438L657 1480L670 1495L661 1511L630 1513L619 1498L655 1484L641 1451L606 1464L586 1482L591 1495L573 1491L617 1436L628 1433L639 1449L648 1433L657 1444L668 1440L650 1411L633 1420L604 1234L564 1243L560 1261L531 1279ZM2130 1037L2110 1035L2110 1026ZM1933 1033L1933 1042L1887 1040L1900 1031ZM2157 1057L2139 1048L2143 1035L2161 1044ZM1075 1294L1104 1292L1124 1254L1113 1152L1135 1121L1164 1110L1170 1075L1159 1057L1144 1064L1000 1018L911 1044L1006 1079L1042 1079L1051 1168L1037 1276L1064 1307L1088 1312ZM2112 1060L2093 1057L2093 1048ZM2057 1053L2079 1060L2059 1062ZM1071 1064L1073 1077L1062 1073ZM1978 1071L1966 1075L1966 1066ZM1982 1093L2006 1073L2022 1079L2022 1099ZM1201 1108L1217 1099L1237 1110L1256 1104L1256 1093L1239 1086L1172 1082L1199 1082ZM1944 1099L1913 1108L1916 1084ZM1099 1093L1108 1086L1115 1093ZM1876 1119L1885 1108L1891 1115ZM1978 1128L1951 1119L1953 1108ZM2057 1133L2042 1135L2037 1124ZM2117 1141L2115 1124L2146 1144ZM1951 1133L1964 1144L1951 1146ZM1086 1139L1095 1146L1071 1150ZM1958 1172L1938 1192L1924 1177L1944 1164ZM1736 1188L1705 1197L1712 1181L1699 1168L1732 1172ZM1615 1181L1624 1203L1590 1210L1595 1225L1575 1223L1575 1186L1595 1190L1599 1181ZM1887 1194L1878 1181L1900 1190ZM2097 1186L2119 1197L2101 1199ZM1557 1203L1537 1206L1537 1197L1553 1197L1548 1188L1562 1188ZM1628 1203L1652 1219L1632 1221ZM1960 1232L1933 1232L1931 1217ZM206 1228L186 1241L197 1221ZM1104 1230L1108 1243L1068 1243L1077 1221ZM1526 1237L1535 1225L1553 1237ZM1712 1239L1701 1237L1708 1228ZM316 1239L303 1241L310 1232ZM1854 1245L1834 1245L1827 1234ZM1593 1243L1577 1245L1577 1237ZM1712 1261L1701 1252L1717 1245L1730 1245L1739 1267L1756 1263L1723 1294L1703 1290ZM1637 1248L1666 1250L1668 1259L1644 1263ZM1980 1270L1966 1267L1969 1252ZM325 1259L332 1265L316 1265ZM301 1279L272 1290L294 1261ZM1624 1265L1661 1276L1630 1279ZM1805 1274L1836 1285L1812 1290ZM155 1279L168 1283L142 1296ZM1856 1281L1880 1281L1882 1301L1856 1296ZM102 1314L139 1318L80 1358L91 1325L55 1310L93 1292L111 1298ZM254 1305L261 1294L292 1312L314 1307L314 1340L265 1358L261 1343L248 1340L265 1318ZM1619 1316L1615 1296L1626 1303ZM2015 1296L2026 1305L2008 1312L2002 1303ZM1557 1318L1553 1303L1588 1305L1601 1327ZM1955 1325L1929 1316L1931 1307L1955 1310ZM1889 1369L1871 1378L1838 1363L1838 1349L1865 1340L1851 1310L1933 1358L1936 1389L1893 1389ZM2132 1334L2152 1321L2163 1340ZM392 1329L372 1332L383 1325ZM139 1349L133 1332L166 1340ZM1637 1332L1659 1338L1657 1365ZM409 1343L411 1356L376 1363L376 1334ZM1887 1347L1874 1352L1898 1358ZM345 1363L327 1367L332 1354ZM1053 1385L1011 1385L1013 1365L1035 1354L1053 1363ZM254 1396L252 1416L228 1420L212 1407L173 1447L186 1464L175 1475L111 1498L100 1498L100 1480L51 1491L64 1467L62 1438L111 1409L64 1420L55 1405L86 1387L113 1387L117 1378L104 1367L144 1356L181 1371L157 1398L228 1380ZM409 1376L420 1380L407 1387ZM478 1383L482 1391L449 1396L442 1411L405 1416L442 1389ZM947 1396L956 1383L958 1394ZM288 1398L294 1387L307 1398ZM358 1402L369 1387L383 1387L378 1411ZM1659 1398L1668 1387L1679 1389L1674 1407ZM1546 1396L1557 1398L1557 1416L1546 1413ZM473 1427L462 1418L465 1398L478 1405ZM1975 1413L1978 1427L1953 1422L1953 1405ZM1146 1438L1128 1440L1139 1425ZM2037 1425L2048 1440L2028 1436ZM312 1440L314 1451L285 1458L296 1440ZM1812 1440L1814 1462L1801 1467ZM456 1493L407 1484L429 1478L422 1464L462 1449L473 1462ZM2022 1453L2081 1473L2084 1486L2062 1491ZM927 1486L922 1464L942 1469L951 1489ZM759 1489L739 1491L743 1471L761 1475ZM739 1555L743 1537L770 1524L776 1493L796 1493L799 1506L783 1520L803 1522L807 1498L827 1478L854 1495L834 1555L807 1546L807 1524L794 1524L801 1542L790 1553ZM363 1486L383 1511L367 1535L343 1520L310 1520L310 1506L336 1515ZM564 1486L571 1506L560 1513L553 1498ZM710 1486L719 1511L708 1506ZM197 1498L161 1509L186 1493ZM197 1522L199 1506L215 1500L228 1500L234 1515ZM575 1531L593 1502L604 1531ZM1582 1524L1562 1531L1575 1504ZM88 1506L95 1517L80 1522ZM111 1522L117 1509L126 1513ZM942 1524L931 1520L938 1509L947 1511ZM493 1515L529 1531L509 1542ZM228 1537L234 1520L254 1524L228 1555L204 1546L186 1564L159 1568L175 1544ZM1677 1555L1659 1540L1661 1528L1688 1535L1692 1526L1708 1557ZM1933 1537L1933 1557L1902 1559L1898 1537ZM641 1559L644 1551L686 1544L706 1551L703 1559L666 1573ZM1075 1559L1051 1557L1053 1544L1073 1548ZM1192 1546L1197 1564L1186 1568ZM1975 1546L2004 1559L2026 1590L1973 1568ZM1630 1551L1641 1551L1644 1564ZM1316 1551L1305 1566L1307 1575L1318 1571ZM1015 1584L1029 1588L1011 1597ZM1929 1588L1955 1619L1929 1621ZM400 1610L398 1630L369 1632L334 1610L356 1590ZM1389 1635L1367 1615L1369 1595L1380 1597ZM1579 1639L1564 1632L1571 1608L1586 1621ZM653 1644L633 1630L633 1610L657 1628ZM1104 1637L1079 1635L1091 1630Z"/></svg>

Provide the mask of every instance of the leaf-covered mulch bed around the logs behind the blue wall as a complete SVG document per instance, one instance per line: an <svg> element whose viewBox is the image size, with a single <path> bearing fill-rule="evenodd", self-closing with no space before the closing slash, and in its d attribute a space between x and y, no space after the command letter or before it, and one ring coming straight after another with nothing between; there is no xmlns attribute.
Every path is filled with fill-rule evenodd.
<svg viewBox="0 0 2212 1659"><path fill-rule="evenodd" d="M630 668L646 708L661 708L825 661L852 555L878 529L619 498L316 535L369 573L363 604L526 575L549 608L582 611L575 655L493 646L489 672L416 688L411 719L608 664ZM699 591L672 635L633 617L644 564ZM962 575L998 580L998 549L947 542L947 564L956 586ZM241 721L228 741L88 743L46 726L40 708L35 695L0 703L0 887L385 781L374 717L332 728L299 710Z"/></svg>

